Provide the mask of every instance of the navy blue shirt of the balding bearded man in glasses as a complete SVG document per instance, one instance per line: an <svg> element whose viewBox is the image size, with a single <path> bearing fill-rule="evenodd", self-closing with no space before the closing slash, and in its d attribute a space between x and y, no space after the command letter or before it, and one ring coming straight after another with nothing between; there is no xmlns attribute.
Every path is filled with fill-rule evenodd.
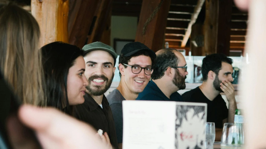
<svg viewBox="0 0 266 149"><path fill-rule="evenodd" d="M170 95L169 99L151 80L144 88L143 92L138 94L138 98L136 100L183 101L183 98L178 92L174 92Z"/></svg>

